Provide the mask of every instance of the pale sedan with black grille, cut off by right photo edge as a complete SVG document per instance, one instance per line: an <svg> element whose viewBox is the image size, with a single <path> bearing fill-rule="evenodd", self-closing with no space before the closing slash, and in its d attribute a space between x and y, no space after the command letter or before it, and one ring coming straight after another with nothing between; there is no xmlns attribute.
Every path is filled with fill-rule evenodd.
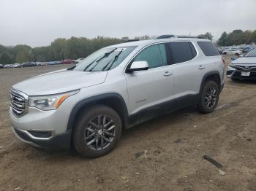
<svg viewBox="0 0 256 191"><path fill-rule="evenodd" d="M233 60L227 68L227 76L232 80L256 79L256 48Z"/></svg>

